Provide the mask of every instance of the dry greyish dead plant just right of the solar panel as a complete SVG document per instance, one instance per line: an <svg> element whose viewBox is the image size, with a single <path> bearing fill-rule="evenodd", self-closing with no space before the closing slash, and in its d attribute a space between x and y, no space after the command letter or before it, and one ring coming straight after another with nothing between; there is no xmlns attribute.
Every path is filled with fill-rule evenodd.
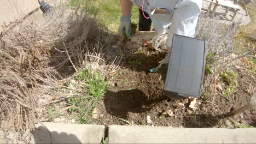
<svg viewBox="0 0 256 144"><path fill-rule="evenodd" d="M223 65L241 57L237 56L234 59L226 58L234 53L238 45L240 45L240 43L237 45L234 43L240 24L241 21L238 21L232 22L229 25L220 22L218 18L210 19L208 14L200 15L195 37L205 40L207 53L213 54L211 58L206 59L209 65ZM252 52L252 50L249 52ZM249 52L246 52L244 55L247 55Z"/></svg>

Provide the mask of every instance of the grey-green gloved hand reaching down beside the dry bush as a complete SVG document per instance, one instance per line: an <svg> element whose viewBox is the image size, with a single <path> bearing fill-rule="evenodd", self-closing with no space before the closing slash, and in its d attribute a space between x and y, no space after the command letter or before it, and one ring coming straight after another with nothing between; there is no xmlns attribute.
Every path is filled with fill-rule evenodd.
<svg viewBox="0 0 256 144"><path fill-rule="evenodd" d="M126 34L127 38L131 37L131 14L125 15L120 19L120 26L118 32L121 34Z"/></svg>

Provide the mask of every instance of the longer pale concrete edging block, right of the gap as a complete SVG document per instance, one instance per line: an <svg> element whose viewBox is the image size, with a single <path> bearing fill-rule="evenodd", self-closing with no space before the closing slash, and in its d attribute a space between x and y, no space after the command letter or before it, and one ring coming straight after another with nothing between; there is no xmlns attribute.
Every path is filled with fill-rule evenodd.
<svg viewBox="0 0 256 144"><path fill-rule="evenodd" d="M256 128L170 128L110 125L109 143L256 143Z"/></svg>

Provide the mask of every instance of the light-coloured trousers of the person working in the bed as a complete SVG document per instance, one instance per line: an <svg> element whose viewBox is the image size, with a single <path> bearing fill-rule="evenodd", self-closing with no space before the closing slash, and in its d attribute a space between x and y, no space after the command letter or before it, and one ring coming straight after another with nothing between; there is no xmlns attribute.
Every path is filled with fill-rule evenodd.
<svg viewBox="0 0 256 144"><path fill-rule="evenodd" d="M143 0L131 0L131 2L137 7L142 8ZM194 37L201 7L201 0L148 0L144 3L144 11L148 14L152 13L150 8L167 8L173 12L172 14L153 14L150 17L157 34L168 33L166 43L168 47L172 46L173 34Z"/></svg>

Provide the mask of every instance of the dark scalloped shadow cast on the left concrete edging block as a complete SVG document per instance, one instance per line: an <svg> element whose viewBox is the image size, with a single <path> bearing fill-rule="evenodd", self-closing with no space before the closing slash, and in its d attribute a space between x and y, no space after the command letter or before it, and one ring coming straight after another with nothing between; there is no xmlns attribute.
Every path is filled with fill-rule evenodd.
<svg viewBox="0 0 256 144"><path fill-rule="evenodd" d="M34 141L31 143L82 143L77 136L67 133L58 133L57 131L49 131L45 127L38 127L33 131Z"/></svg>

